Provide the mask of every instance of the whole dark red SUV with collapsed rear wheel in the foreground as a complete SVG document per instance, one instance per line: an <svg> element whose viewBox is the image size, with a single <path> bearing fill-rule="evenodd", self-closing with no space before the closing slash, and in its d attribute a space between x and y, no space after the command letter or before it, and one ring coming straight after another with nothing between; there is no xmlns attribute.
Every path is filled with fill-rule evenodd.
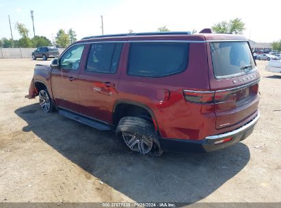
<svg viewBox="0 0 281 208"><path fill-rule="evenodd" d="M115 131L132 151L161 155L247 138L259 81L242 36L119 34L84 38L50 66L36 65L26 97L39 96L45 113Z"/></svg>

